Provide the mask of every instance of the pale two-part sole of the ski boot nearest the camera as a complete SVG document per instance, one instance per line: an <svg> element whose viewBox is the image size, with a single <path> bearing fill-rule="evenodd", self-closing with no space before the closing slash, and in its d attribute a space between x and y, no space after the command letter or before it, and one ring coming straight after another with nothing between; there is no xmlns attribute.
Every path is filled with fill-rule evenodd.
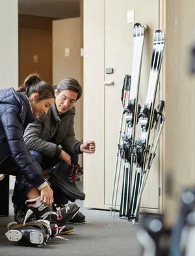
<svg viewBox="0 0 195 256"><path fill-rule="evenodd" d="M16 229L10 229L8 232L6 232L5 236L11 242L19 242L22 238L21 232ZM31 242L31 244L37 244L37 245L43 244L44 236L43 236L42 232L33 232L32 231L29 234L29 242Z"/></svg>

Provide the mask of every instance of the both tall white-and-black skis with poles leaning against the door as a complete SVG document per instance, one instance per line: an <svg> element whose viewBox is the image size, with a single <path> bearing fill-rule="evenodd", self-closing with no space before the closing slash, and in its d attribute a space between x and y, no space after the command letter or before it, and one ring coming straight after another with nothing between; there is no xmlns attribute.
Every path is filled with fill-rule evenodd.
<svg viewBox="0 0 195 256"><path fill-rule="evenodd" d="M151 163L155 157L155 150L164 124L164 117L162 116L164 101L160 101L157 110L154 108L164 51L164 32L160 29L155 30L153 33L153 52L146 103L141 108L138 105L138 90L145 34L146 26L137 22L133 27L131 86L129 86L128 97L125 97L122 106L122 120L120 123L120 136L118 140L118 152L116 156L114 187L111 202L112 213L116 209L120 169L123 161L123 186L120 217L128 217L128 219L131 219L133 222L135 220L138 221L140 200L148 178ZM125 119L125 123L122 125L123 119ZM135 138L135 130L138 120L140 120L141 135L140 138ZM161 127L157 139L154 142L158 123L161 123ZM153 138L150 141L152 129L154 133ZM119 156L120 159L118 160ZM135 165L135 181L132 189L133 165ZM118 180L118 182L116 182L116 180Z"/></svg>

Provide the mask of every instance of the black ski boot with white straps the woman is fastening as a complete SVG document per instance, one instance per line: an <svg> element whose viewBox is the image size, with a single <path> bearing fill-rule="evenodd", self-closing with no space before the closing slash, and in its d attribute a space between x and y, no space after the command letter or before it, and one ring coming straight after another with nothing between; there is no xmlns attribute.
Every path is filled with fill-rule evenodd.
<svg viewBox="0 0 195 256"><path fill-rule="evenodd" d="M60 225L64 225L67 221L72 219L77 212L79 212L79 206L77 204L66 204L64 207L49 207L45 205L40 197L37 199L26 200L25 204L29 208L27 214L24 219L24 224L27 219L33 213L36 219L47 219L51 223L57 223Z"/></svg>

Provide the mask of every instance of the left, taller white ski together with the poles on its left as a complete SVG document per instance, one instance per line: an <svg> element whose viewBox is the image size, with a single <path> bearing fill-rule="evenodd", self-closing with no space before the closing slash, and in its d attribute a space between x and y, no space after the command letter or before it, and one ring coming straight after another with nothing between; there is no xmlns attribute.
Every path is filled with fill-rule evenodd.
<svg viewBox="0 0 195 256"><path fill-rule="evenodd" d="M121 168L124 167L122 203L120 216L127 216L129 207L129 191L131 184L131 153L130 146L135 138L135 124L137 116L137 95L140 81L140 69L142 63L142 51L146 27L138 22L133 26L133 64L132 76L125 76L122 96L122 115L120 121L120 134L118 138L118 151L114 172L114 185L112 191L111 214L116 210L116 200L118 197L118 185ZM131 85L130 85L131 83ZM130 89L131 88L131 89ZM131 91L130 91L131 90ZM122 165L123 161L123 165Z"/></svg>

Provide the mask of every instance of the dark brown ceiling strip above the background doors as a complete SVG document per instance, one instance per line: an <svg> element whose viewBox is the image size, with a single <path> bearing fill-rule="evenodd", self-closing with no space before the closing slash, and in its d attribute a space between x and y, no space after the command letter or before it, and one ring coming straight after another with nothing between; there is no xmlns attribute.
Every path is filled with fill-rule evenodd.
<svg viewBox="0 0 195 256"><path fill-rule="evenodd" d="M18 13L53 18L80 16L80 0L18 0Z"/></svg>

